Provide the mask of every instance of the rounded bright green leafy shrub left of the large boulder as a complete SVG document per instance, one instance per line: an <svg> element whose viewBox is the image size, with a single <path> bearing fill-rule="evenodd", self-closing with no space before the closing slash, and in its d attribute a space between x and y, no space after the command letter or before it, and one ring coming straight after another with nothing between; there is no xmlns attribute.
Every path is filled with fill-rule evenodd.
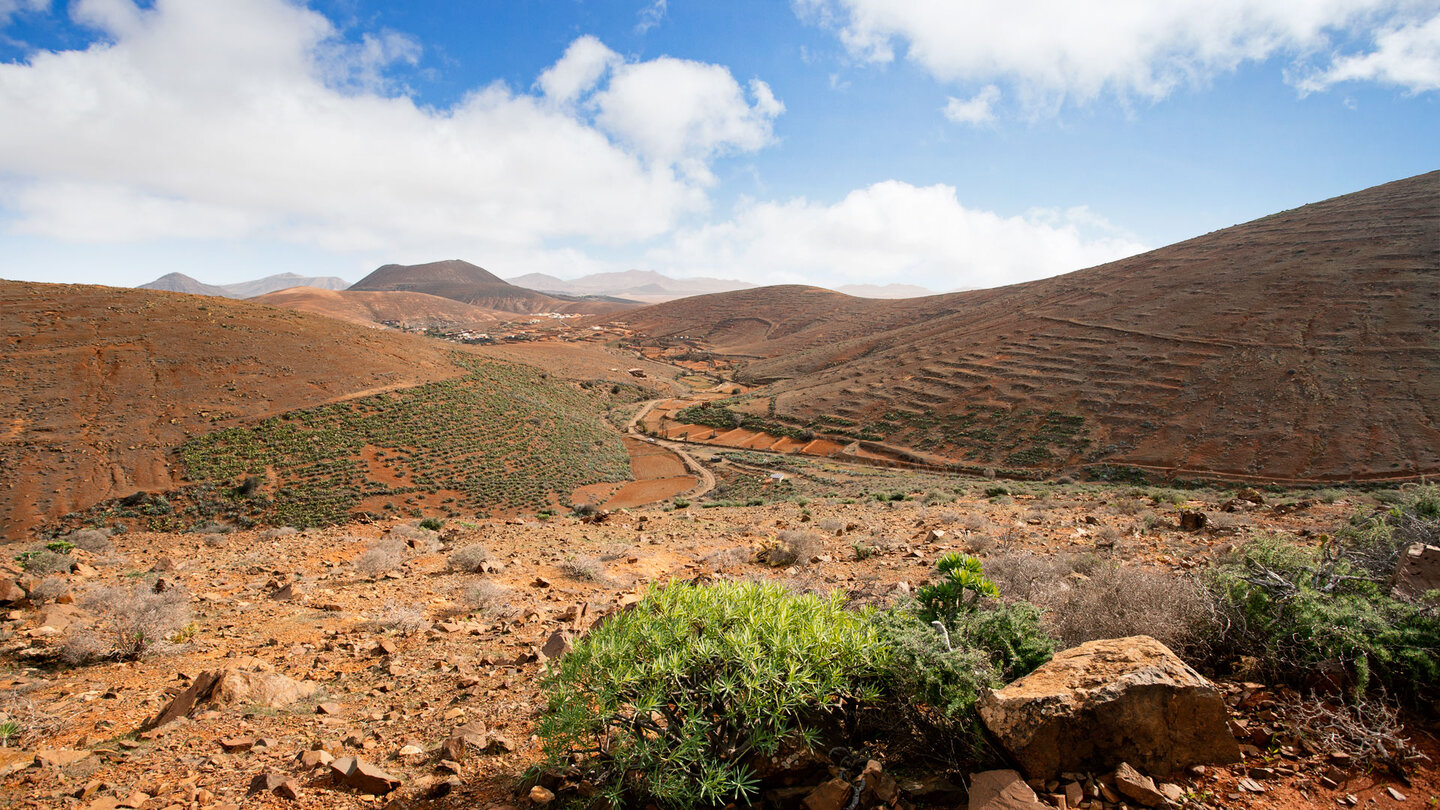
<svg viewBox="0 0 1440 810"><path fill-rule="evenodd" d="M671 582L560 659L539 734L553 767L598 751L580 767L611 806L747 801L755 757L815 747L827 718L878 699L888 667L840 594Z"/></svg>

